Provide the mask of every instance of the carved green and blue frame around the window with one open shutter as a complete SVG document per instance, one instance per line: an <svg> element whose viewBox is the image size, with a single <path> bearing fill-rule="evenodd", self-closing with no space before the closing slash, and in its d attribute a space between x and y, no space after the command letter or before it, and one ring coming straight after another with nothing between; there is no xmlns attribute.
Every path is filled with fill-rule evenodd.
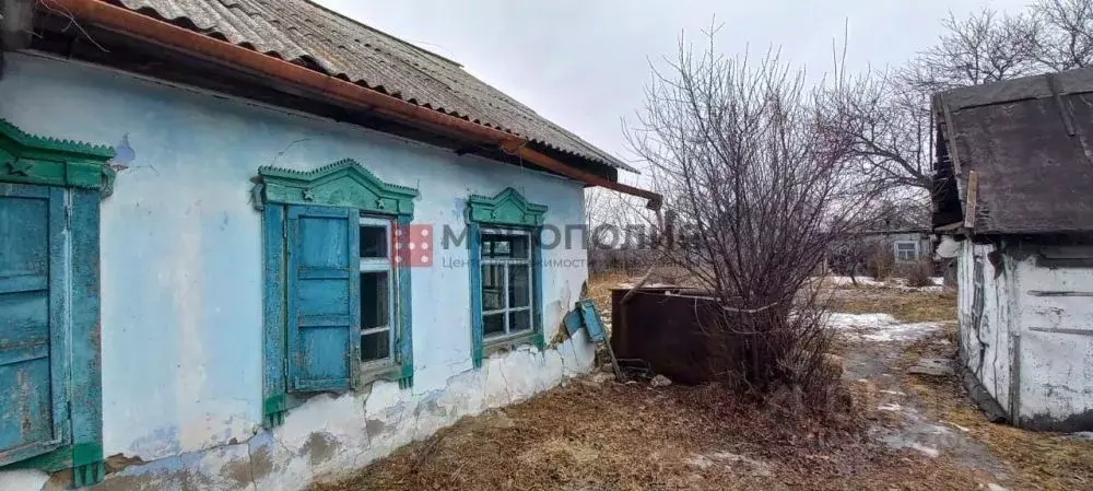
<svg viewBox="0 0 1093 491"><path fill-rule="evenodd" d="M310 394L289 389L286 374L286 218L294 207L350 208L361 217L389 219L406 227L413 221L418 190L385 183L352 159L313 171L259 167L251 190L255 207L262 213L265 250L262 413L267 428L284 422L287 411ZM413 386L413 319L410 268L396 268L395 301L398 329L397 362L383 370L361 370L360 360L352 388L378 381L397 381L402 388ZM357 280L359 281L359 280Z"/></svg>

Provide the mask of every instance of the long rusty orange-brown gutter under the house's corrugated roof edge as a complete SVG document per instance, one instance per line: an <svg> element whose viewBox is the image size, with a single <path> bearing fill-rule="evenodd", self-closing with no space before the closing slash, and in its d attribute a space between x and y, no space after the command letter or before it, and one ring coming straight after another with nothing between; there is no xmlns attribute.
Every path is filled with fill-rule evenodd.
<svg viewBox="0 0 1093 491"><path fill-rule="evenodd" d="M566 165L556 159L528 148L528 139L471 122L437 110L402 101L398 97L363 87L334 77L293 65L242 46L196 33L101 0L49 0L50 8L66 11L77 21L125 33L146 42L185 51L219 65L257 74L262 78L317 92L339 104L372 110L418 128L473 140L496 147L543 168L581 183L600 186L648 200L647 207L659 209L660 195Z"/></svg>

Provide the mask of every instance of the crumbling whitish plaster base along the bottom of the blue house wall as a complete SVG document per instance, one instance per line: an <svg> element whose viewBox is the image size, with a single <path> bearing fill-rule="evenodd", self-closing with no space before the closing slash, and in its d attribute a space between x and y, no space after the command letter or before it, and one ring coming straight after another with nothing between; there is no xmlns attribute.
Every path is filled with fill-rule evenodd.
<svg viewBox="0 0 1093 491"><path fill-rule="evenodd" d="M294 491L338 479L462 417L525 400L587 372L593 353L575 347L586 343L581 331L557 350L495 355L424 394L377 382L367 395L318 396L290 412L284 425L248 442L131 465L94 489Z"/></svg>

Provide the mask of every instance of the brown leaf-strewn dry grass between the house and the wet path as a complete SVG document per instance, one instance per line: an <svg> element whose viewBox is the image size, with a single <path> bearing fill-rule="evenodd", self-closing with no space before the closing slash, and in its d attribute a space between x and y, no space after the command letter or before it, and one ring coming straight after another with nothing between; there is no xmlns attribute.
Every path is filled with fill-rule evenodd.
<svg viewBox="0 0 1093 491"><path fill-rule="evenodd" d="M890 451L865 420L795 418L715 387L595 384L465 418L355 478L349 490L974 489L945 459Z"/></svg>

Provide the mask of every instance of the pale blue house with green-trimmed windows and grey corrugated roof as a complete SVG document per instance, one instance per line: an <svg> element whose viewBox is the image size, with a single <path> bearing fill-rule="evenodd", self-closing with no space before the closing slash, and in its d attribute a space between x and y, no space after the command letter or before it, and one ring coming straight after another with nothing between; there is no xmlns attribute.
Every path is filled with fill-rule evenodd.
<svg viewBox="0 0 1093 491"><path fill-rule="evenodd" d="M615 157L305 0L0 7L0 489L303 489L591 367Z"/></svg>

